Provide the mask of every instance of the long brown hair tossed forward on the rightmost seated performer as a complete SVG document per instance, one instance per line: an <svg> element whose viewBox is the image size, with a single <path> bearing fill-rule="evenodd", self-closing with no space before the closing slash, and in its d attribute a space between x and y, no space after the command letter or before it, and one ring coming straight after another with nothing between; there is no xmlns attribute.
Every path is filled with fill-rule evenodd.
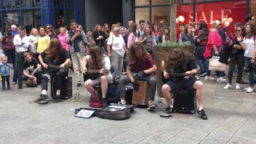
<svg viewBox="0 0 256 144"><path fill-rule="evenodd" d="M193 55L182 51L181 49L170 50L169 53L163 54L163 61L166 63L166 71L174 70L178 66L184 65L193 59Z"/></svg>

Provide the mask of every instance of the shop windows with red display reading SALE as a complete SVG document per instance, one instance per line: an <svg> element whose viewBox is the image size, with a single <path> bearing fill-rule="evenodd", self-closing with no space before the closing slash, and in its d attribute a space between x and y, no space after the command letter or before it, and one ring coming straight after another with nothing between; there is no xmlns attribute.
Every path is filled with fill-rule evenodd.
<svg viewBox="0 0 256 144"><path fill-rule="evenodd" d="M140 19L154 22L158 26L170 26L170 0L130 0L134 4L134 18L138 23ZM220 19L230 22L228 28L234 30L235 22L245 24L246 14L256 15L256 0L190 0L189 4L178 6L177 27L179 24L205 21L210 26L211 22ZM127 18L125 18L127 19Z"/></svg>

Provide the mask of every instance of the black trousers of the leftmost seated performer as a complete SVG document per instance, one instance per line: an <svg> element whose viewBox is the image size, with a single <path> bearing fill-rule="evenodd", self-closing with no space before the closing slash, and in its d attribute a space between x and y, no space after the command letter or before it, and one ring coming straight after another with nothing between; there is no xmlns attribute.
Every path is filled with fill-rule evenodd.
<svg viewBox="0 0 256 144"><path fill-rule="evenodd" d="M63 79L68 76L68 72L65 71L58 71L57 73L51 73L50 75L51 81L55 81L56 83L56 90L62 90L62 83ZM42 90L48 90L48 82L49 78L46 76L46 74L42 75Z"/></svg>

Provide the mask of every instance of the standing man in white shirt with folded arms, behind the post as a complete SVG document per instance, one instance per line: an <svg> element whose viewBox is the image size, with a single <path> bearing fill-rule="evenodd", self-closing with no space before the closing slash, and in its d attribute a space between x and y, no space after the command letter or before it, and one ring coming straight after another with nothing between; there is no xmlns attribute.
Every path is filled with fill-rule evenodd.
<svg viewBox="0 0 256 144"><path fill-rule="evenodd" d="M17 54L21 53L22 54L22 63L24 62L24 57L23 54L28 50L28 47L30 45L30 40L28 37L25 36L26 30L23 26L18 28L18 34L14 36L14 46L15 46L15 67L14 67L14 78L13 78L13 83L12 85L17 84ZM21 70L22 71L22 70Z"/></svg>

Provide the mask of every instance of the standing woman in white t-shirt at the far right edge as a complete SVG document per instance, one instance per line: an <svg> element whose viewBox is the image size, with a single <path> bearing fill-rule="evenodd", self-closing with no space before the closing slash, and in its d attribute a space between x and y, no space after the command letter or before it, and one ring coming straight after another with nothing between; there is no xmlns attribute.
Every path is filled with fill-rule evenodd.
<svg viewBox="0 0 256 144"><path fill-rule="evenodd" d="M242 46L242 49L245 50L244 59L246 66L249 63L255 62L255 56L256 56L256 28L253 24L247 24L246 25L246 36L242 39L242 37L238 37L238 42L240 46ZM247 93L251 93L254 91L254 72L250 69L249 71L249 84L250 86L246 88Z"/></svg>

